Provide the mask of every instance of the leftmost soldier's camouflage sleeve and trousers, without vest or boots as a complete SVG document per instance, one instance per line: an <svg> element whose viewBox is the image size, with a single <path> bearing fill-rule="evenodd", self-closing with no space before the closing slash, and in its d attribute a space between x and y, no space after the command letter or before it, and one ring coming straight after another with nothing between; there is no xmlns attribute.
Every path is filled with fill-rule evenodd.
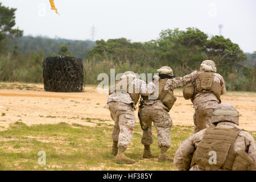
<svg viewBox="0 0 256 182"><path fill-rule="evenodd" d="M155 84L153 82L146 84L143 80L135 78L131 84L143 96L148 96L154 92ZM110 94L107 101L107 108L110 110L111 117L115 122L112 139L118 141L118 147L127 148L133 137L133 128L135 126L134 110L136 109L130 94Z"/></svg>

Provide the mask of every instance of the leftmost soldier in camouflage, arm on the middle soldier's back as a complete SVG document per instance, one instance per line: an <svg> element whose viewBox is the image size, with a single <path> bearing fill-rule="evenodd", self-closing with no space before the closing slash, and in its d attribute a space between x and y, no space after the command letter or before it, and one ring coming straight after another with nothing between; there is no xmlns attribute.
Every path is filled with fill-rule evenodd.
<svg viewBox="0 0 256 182"><path fill-rule="evenodd" d="M154 92L155 84L150 82L146 84L143 80L136 78L134 72L125 72L120 81L115 82L114 87L110 88L107 101L107 108L114 120L112 131L112 154L116 155L117 163L133 164L125 156L124 152L133 137L133 128L135 126L134 110L139 100L139 95L148 96Z"/></svg>

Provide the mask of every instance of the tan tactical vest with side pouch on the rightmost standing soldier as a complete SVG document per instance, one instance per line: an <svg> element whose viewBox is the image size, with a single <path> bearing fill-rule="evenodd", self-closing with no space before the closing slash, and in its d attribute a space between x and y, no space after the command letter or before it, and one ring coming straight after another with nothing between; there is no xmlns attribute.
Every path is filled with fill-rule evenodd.
<svg viewBox="0 0 256 182"><path fill-rule="evenodd" d="M214 73L212 72L203 72L197 76L195 80L195 86L188 84L183 90L183 97L188 100L195 97L197 93L209 93L213 94L220 100L221 95L221 85L218 82L213 81ZM194 89L192 89L194 88Z"/></svg>

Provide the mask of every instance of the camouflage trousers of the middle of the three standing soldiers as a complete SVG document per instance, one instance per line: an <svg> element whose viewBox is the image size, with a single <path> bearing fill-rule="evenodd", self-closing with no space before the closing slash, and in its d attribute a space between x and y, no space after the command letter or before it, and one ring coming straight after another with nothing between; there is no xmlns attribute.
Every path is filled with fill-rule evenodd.
<svg viewBox="0 0 256 182"><path fill-rule="evenodd" d="M170 148L172 119L164 107L164 105L159 104L145 104L141 109L139 109L139 115L142 121L145 122L149 127L147 131L143 131L141 139L142 144L150 145L153 143L151 130L153 122L158 133L158 146L166 146Z"/></svg>

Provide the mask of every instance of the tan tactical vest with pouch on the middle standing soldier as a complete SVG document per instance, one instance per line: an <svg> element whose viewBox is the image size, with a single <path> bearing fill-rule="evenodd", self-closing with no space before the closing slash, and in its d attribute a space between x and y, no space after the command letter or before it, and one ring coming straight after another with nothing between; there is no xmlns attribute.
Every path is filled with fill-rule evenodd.
<svg viewBox="0 0 256 182"><path fill-rule="evenodd" d="M176 97L174 96L174 92L170 90L164 90L164 85L166 85L168 78L160 79L158 82L158 88L157 85L155 85L155 90L158 89L158 98L155 100L161 100L163 104L169 109L172 109L172 106L174 106L174 103L176 101ZM153 96L154 93L151 94ZM148 96L142 96L143 100L148 100Z"/></svg>

